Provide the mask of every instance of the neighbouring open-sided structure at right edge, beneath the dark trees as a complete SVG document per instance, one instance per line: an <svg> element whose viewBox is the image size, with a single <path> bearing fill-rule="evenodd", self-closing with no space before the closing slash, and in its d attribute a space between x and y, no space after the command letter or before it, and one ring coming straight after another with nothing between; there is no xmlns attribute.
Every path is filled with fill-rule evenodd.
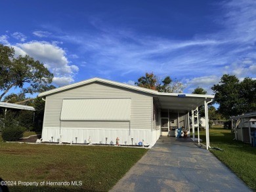
<svg viewBox="0 0 256 192"><path fill-rule="evenodd" d="M230 117L230 119L232 120L232 130L234 130L235 139L251 144L251 135L256 131L256 111Z"/></svg>

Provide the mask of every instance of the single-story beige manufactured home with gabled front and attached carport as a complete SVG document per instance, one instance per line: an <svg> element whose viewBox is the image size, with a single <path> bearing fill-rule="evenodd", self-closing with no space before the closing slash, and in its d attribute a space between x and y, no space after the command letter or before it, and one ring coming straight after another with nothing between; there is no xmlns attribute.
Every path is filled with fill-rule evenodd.
<svg viewBox="0 0 256 192"><path fill-rule="evenodd" d="M127 145L154 145L160 135L173 135L175 128L189 130L191 114L194 134L198 107L206 106L207 114L207 104L214 98L158 92L100 78L48 90L39 96L45 100L43 142L116 144L119 138L119 144Z"/></svg>

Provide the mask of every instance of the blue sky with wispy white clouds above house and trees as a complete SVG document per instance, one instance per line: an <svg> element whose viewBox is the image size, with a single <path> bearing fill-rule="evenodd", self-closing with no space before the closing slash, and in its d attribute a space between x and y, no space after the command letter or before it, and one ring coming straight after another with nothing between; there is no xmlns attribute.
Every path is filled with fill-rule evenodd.
<svg viewBox="0 0 256 192"><path fill-rule="evenodd" d="M256 77L254 0L2 0L0 18L0 43L43 62L56 86L154 72L212 94L224 73Z"/></svg>

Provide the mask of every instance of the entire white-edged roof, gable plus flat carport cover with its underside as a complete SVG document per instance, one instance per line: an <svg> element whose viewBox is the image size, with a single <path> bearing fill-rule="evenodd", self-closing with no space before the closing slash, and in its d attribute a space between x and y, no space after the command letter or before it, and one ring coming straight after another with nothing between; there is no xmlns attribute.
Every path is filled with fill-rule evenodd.
<svg viewBox="0 0 256 192"><path fill-rule="evenodd" d="M72 88L87 85L90 83L104 83L107 85L114 85L121 88L128 88L130 90L151 94L158 101L158 105L160 105L161 108L173 109L175 111L178 111L178 110L190 111L192 109L196 109L196 107L202 106L205 100L206 102L209 102L211 101L211 99L214 98L214 95L158 92L157 90L152 90L149 88L142 88L140 86L127 85L125 83L109 81L109 80L100 79L97 77L92 79L87 79L85 81L80 81L78 83L74 83L71 85L62 86L60 88L54 88L53 90L48 90L46 92L40 93L39 96L48 96L51 94L56 94L64 90L70 90Z"/></svg>

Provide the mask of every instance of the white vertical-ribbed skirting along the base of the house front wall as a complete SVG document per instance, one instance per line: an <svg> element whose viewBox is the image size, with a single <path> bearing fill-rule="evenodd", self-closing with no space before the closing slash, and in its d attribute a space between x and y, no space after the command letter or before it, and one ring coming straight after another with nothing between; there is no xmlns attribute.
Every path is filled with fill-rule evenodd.
<svg viewBox="0 0 256 192"><path fill-rule="evenodd" d="M43 128L43 142L72 142L75 144L85 144L91 139L92 144L116 144L116 138L119 138L119 144L136 145L144 140L144 145L154 145L159 138L158 130L145 129L103 129L103 128ZM106 140L107 138L107 140Z"/></svg>

